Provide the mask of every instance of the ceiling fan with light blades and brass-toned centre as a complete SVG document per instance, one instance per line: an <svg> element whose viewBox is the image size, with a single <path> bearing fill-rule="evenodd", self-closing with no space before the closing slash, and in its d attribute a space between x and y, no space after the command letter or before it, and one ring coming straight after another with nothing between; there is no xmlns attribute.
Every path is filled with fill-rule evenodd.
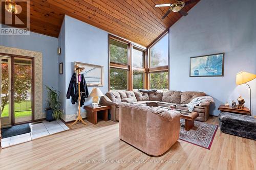
<svg viewBox="0 0 256 170"><path fill-rule="evenodd" d="M159 5L156 5L155 7L169 7L170 9L164 14L164 16L162 17L165 18L170 12L179 12L181 15L183 16L186 16L188 13L183 10L183 7L185 5L188 5L188 4L191 4L191 3L195 3L197 2L198 0L190 0L190 1L187 1L187 2L182 2L182 1L176 1L176 3L174 4L159 4Z"/></svg>

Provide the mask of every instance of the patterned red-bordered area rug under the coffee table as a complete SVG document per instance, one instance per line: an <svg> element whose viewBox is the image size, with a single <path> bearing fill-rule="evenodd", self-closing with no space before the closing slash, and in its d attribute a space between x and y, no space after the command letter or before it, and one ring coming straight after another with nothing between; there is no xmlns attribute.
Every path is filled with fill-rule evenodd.
<svg viewBox="0 0 256 170"><path fill-rule="evenodd" d="M195 126L189 131L185 130L185 120L180 119L180 139L199 147L210 150L211 143L218 129L218 125L195 121Z"/></svg>

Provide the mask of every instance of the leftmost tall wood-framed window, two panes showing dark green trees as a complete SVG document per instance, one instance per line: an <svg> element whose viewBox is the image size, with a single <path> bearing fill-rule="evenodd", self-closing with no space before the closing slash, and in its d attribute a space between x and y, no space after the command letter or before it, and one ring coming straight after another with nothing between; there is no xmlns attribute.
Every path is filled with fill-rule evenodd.
<svg viewBox="0 0 256 170"><path fill-rule="evenodd" d="M129 89L129 43L109 39L110 90Z"/></svg>

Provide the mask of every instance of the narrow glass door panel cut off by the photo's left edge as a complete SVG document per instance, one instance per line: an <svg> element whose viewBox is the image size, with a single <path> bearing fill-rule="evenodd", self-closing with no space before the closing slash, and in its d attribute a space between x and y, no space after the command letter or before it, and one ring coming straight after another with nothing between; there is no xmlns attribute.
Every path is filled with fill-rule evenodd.
<svg viewBox="0 0 256 170"><path fill-rule="evenodd" d="M0 56L1 126L11 126L11 58Z"/></svg>

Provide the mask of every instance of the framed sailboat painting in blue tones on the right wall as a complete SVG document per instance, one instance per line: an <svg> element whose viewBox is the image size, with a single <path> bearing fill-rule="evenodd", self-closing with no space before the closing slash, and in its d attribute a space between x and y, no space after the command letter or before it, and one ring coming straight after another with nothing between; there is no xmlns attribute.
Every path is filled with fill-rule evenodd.
<svg viewBox="0 0 256 170"><path fill-rule="evenodd" d="M224 53L190 57L189 77L224 75Z"/></svg>

